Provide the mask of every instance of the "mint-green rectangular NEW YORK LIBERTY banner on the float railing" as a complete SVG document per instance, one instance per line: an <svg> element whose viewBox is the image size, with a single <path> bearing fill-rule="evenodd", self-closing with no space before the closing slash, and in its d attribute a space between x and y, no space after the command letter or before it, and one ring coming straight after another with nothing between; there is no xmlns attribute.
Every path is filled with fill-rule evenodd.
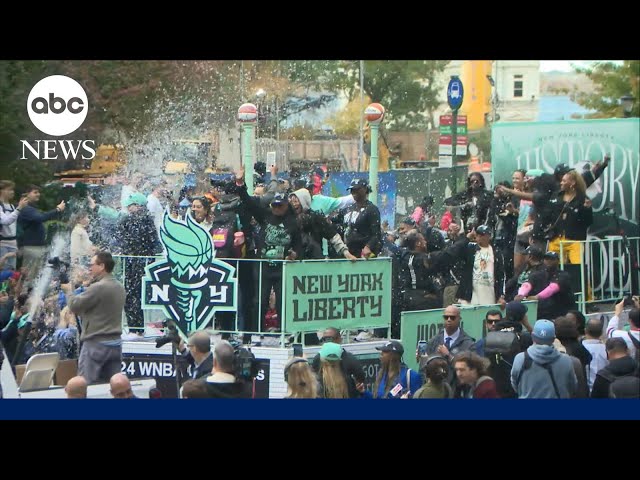
<svg viewBox="0 0 640 480"><path fill-rule="evenodd" d="M284 331L388 327L391 259L286 262Z"/></svg>

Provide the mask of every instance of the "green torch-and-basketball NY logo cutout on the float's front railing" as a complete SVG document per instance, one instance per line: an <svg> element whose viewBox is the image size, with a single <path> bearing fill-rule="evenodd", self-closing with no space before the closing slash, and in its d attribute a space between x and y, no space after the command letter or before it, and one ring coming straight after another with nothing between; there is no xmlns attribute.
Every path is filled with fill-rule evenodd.
<svg viewBox="0 0 640 480"><path fill-rule="evenodd" d="M236 310L235 268L214 259L209 232L191 215L183 222L165 213L160 238L167 257L145 269L143 308L164 310L185 334L206 328L216 311Z"/></svg>

